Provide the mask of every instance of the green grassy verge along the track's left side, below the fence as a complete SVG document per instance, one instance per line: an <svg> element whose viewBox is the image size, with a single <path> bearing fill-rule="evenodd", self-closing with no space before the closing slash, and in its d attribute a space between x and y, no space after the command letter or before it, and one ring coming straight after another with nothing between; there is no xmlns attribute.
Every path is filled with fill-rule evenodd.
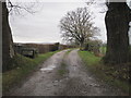
<svg viewBox="0 0 131 98"><path fill-rule="evenodd" d="M16 66L15 69L12 69L8 72L4 72L2 74L2 90L8 91L9 88L11 88L13 85L20 83L23 78L25 78L31 72L33 72L37 66L44 62L46 59L51 57L53 52L48 52L44 54L39 54L35 59L29 59L20 54L16 54L14 59L12 60L11 64ZM13 66L11 65L11 66Z"/></svg>

